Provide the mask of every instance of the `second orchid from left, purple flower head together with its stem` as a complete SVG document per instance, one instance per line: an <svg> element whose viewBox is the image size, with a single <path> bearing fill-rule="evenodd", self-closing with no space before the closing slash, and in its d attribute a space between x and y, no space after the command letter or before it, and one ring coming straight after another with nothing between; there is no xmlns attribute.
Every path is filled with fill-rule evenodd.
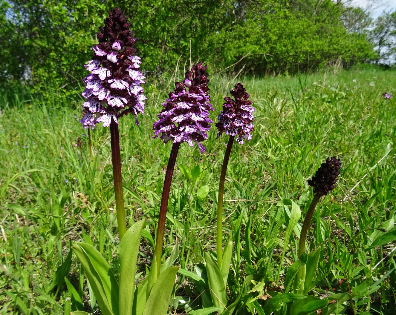
<svg viewBox="0 0 396 315"><path fill-rule="evenodd" d="M213 111L213 108L209 103L209 74L206 72L206 68L207 66L202 66L202 63L197 63L192 67L191 71L186 72L183 83L175 82L175 91L170 92L169 98L162 103L165 108L158 114L160 119L153 124L154 139L159 134L161 134L161 139L165 143L173 139L162 190L160 214L158 215L155 242L157 276L160 274L169 192L180 144L187 142L190 146L193 146L194 142L196 142L201 152L204 152L205 148L200 142L208 139L207 132L209 131L210 123L213 123L209 119L209 111Z"/></svg>

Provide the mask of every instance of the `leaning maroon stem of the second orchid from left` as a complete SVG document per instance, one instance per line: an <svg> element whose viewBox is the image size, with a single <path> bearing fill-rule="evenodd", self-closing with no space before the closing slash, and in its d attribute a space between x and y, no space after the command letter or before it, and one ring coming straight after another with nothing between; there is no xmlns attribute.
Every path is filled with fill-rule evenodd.
<svg viewBox="0 0 396 315"><path fill-rule="evenodd" d="M169 156L168 167L162 190L160 215L158 216L157 239L155 241L155 259L157 263L157 277L160 275L162 244L164 242L166 212L168 211L169 192L171 190L173 170L175 169L177 152L179 152L180 142L173 142L171 155Z"/></svg>

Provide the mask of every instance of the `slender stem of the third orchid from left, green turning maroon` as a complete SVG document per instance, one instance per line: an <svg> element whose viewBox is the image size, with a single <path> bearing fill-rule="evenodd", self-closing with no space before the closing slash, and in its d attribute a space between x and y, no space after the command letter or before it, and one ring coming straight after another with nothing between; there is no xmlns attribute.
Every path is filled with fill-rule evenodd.
<svg viewBox="0 0 396 315"><path fill-rule="evenodd" d="M234 143L235 136L230 136L227 143L227 148L224 154L223 166L221 167L220 183L219 183L219 197L217 198L217 235L216 235L216 248L217 248L217 265L221 266L223 262L223 250L221 246L221 223L223 221L223 194L225 175L227 173L228 160L230 159L232 144Z"/></svg>

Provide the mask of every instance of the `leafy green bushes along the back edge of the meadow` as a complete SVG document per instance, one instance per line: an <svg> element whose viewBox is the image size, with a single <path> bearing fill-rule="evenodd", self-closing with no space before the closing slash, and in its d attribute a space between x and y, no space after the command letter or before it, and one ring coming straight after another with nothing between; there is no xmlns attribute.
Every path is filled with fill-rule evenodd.
<svg viewBox="0 0 396 315"><path fill-rule="evenodd" d="M212 71L244 57L228 69L255 75L377 57L360 27L367 14L331 0L0 0L2 86L60 89L83 78L95 32L114 6L132 23L147 74L188 68L190 51L192 63Z"/></svg>

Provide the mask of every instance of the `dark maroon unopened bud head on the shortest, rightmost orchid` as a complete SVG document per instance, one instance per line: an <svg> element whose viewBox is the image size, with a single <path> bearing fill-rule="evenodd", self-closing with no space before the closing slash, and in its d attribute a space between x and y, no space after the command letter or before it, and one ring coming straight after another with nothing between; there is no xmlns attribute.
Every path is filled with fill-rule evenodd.
<svg viewBox="0 0 396 315"><path fill-rule="evenodd" d="M313 187L314 194L326 196L335 188L337 177L340 175L341 162L335 156L328 157L322 163L312 180L308 179L308 185Z"/></svg>

